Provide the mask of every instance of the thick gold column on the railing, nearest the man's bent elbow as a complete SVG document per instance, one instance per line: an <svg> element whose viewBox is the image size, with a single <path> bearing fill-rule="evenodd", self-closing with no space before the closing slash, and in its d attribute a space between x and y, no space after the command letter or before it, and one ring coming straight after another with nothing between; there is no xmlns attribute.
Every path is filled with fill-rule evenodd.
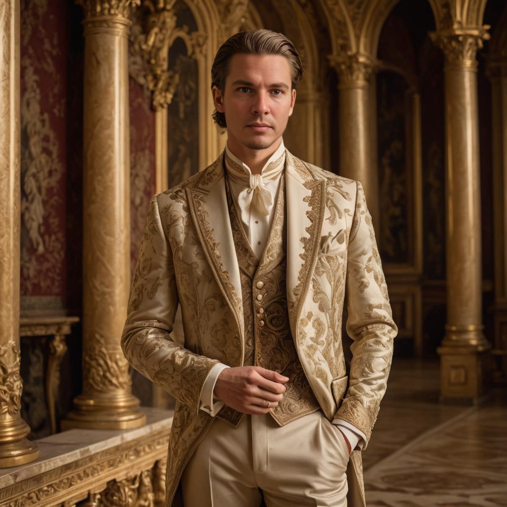
<svg viewBox="0 0 507 507"><path fill-rule="evenodd" d="M83 393L71 427L132 428L146 416L120 348L130 285L128 20L139 0L78 0L85 10Z"/></svg>

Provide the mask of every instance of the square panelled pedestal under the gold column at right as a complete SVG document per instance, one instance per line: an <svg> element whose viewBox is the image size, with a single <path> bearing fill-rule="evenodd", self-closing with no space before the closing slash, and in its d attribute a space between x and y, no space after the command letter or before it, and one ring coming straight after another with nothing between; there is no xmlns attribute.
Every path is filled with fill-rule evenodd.
<svg viewBox="0 0 507 507"><path fill-rule="evenodd" d="M449 344L444 340L442 346L437 349L440 354L442 401L480 401L489 384L490 348L485 340L478 345L456 342Z"/></svg>

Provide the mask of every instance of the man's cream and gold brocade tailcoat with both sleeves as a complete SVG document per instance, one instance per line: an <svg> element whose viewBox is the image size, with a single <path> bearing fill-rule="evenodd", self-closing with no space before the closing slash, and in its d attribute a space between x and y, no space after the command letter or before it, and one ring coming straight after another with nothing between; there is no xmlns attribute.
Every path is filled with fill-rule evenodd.
<svg viewBox="0 0 507 507"><path fill-rule="evenodd" d="M367 437L386 389L393 339L379 253L363 188L294 157L285 161L286 288L289 322L305 375L325 416ZM121 338L133 368L176 399L169 439L166 506L214 418L200 394L218 363L241 366L241 283L227 205L222 153L209 167L154 196L132 281ZM350 371L342 312L353 339ZM170 333L178 304L185 342ZM347 468L349 505L366 505L361 451Z"/></svg>

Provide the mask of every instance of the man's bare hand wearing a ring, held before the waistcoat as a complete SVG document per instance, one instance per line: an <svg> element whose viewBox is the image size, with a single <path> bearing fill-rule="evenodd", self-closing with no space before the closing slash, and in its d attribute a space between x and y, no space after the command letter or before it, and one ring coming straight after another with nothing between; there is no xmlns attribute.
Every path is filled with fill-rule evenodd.
<svg viewBox="0 0 507 507"><path fill-rule="evenodd" d="M281 401L287 381L288 377L260 366L238 366L220 373L213 393L239 412L262 415Z"/></svg>

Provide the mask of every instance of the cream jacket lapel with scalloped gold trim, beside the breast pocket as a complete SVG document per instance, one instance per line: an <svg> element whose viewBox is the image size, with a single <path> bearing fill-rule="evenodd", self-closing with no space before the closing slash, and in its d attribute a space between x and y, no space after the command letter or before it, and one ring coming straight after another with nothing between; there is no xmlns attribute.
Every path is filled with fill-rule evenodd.
<svg viewBox="0 0 507 507"><path fill-rule="evenodd" d="M325 180L286 151L287 302L291 332L298 347L297 323L320 245L325 210Z"/></svg>

